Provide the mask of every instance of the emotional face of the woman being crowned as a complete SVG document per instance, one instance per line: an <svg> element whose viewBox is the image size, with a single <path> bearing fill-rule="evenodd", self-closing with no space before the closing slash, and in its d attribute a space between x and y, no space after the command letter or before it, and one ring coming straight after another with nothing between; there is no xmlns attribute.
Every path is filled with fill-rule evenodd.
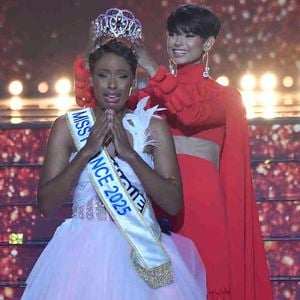
<svg viewBox="0 0 300 300"><path fill-rule="evenodd" d="M134 74L125 58L114 53L103 54L95 63L92 79L97 106L116 112L126 109Z"/></svg>

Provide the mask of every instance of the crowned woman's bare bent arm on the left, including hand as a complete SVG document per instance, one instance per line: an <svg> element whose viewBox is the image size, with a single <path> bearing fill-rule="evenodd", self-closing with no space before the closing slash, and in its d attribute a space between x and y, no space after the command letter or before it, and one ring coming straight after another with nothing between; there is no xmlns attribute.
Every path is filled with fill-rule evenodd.
<svg viewBox="0 0 300 300"><path fill-rule="evenodd" d="M74 146L66 119L60 117L54 122L48 140L37 195L39 207L44 215L55 212L70 195L80 173L88 161L99 151L107 132L106 118L97 120L86 145L69 162Z"/></svg>

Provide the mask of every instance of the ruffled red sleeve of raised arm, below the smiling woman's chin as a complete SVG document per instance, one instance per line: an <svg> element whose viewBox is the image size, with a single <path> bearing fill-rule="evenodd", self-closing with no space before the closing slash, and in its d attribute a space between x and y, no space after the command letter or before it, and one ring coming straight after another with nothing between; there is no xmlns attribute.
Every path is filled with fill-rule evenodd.
<svg viewBox="0 0 300 300"><path fill-rule="evenodd" d="M184 85L165 67L159 67L150 79L149 87L157 98L163 99L168 112L176 115L177 120L186 127L225 123L223 87L211 79Z"/></svg>

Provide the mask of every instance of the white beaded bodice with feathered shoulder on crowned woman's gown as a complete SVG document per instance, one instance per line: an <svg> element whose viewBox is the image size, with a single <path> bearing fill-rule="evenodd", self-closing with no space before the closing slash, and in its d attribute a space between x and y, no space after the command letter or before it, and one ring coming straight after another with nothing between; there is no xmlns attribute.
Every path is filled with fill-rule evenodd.
<svg viewBox="0 0 300 300"><path fill-rule="evenodd" d="M153 114L158 111L158 107L144 110L147 98L141 100L137 108L130 113L127 113L122 120L124 128L131 134L133 140L133 148L139 156L153 168L152 156L144 152L147 145L157 146L157 142L150 138L151 132L149 130L150 120ZM70 160L76 156L72 153ZM119 167L130 180L130 182L144 194L144 188L134 173L130 165L119 157L114 157ZM108 212L99 199L95 189L90 183L88 171L85 168L78 180L73 194L73 218L87 219L87 220L110 220Z"/></svg>

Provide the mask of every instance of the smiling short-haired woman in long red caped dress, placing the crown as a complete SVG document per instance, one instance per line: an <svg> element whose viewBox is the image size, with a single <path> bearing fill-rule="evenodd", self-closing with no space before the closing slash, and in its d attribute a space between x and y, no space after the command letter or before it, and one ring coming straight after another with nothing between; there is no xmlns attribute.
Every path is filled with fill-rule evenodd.
<svg viewBox="0 0 300 300"><path fill-rule="evenodd" d="M244 107L238 91L208 75L208 52L220 21L205 7L182 5L169 16L167 29L168 54L177 72L173 75L158 67L137 42L139 64L151 78L148 88L133 95L131 103L134 106L149 95L151 104L167 108L185 202L175 229L191 238L201 254L209 300L271 300ZM83 80L86 74L78 66L80 104L90 94Z"/></svg>

